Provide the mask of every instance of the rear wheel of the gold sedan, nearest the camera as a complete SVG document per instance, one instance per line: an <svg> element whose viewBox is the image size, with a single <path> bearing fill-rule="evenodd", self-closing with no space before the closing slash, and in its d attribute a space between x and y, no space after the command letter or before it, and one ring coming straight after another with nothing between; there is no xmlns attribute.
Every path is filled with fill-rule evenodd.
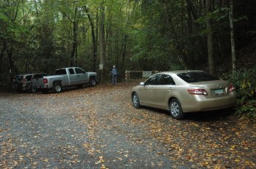
<svg viewBox="0 0 256 169"><path fill-rule="evenodd" d="M176 98L170 101L170 116L173 119L182 119L184 118L184 113L181 109L181 103Z"/></svg>

